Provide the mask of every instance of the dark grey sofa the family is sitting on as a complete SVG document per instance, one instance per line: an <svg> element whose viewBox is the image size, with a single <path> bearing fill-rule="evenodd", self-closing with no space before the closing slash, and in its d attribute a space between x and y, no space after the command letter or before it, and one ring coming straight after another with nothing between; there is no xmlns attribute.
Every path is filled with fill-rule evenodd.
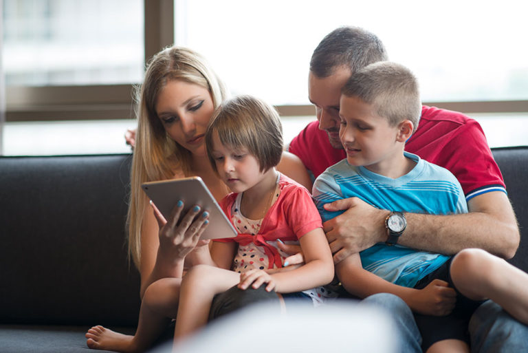
<svg viewBox="0 0 528 353"><path fill-rule="evenodd" d="M528 147L493 153L528 236ZM130 163L130 155L0 158L0 352L86 352L96 324L133 332ZM511 262L528 270L522 239Z"/></svg>

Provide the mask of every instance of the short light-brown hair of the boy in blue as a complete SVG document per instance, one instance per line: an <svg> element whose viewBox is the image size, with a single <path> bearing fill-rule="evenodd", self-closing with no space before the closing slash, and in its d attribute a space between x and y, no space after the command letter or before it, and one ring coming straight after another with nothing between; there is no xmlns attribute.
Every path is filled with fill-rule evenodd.
<svg viewBox="0 0 528 353"><path fill-rule="evenodd" d="M410 120L414 129L421 116L418 82L404 65L381 61L355 72L341 89L344 96L355 96L371 104L391 126Z"/></svg>

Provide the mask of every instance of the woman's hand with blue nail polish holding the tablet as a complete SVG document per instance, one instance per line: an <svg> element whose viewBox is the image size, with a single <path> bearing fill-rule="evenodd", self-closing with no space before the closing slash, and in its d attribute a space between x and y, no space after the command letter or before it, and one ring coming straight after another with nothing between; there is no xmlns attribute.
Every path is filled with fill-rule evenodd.
<svg viewBox="0 0 528 353"><path fill-rule="evenodd" d="M169 261L181 260L193 249L199 246L206 246L206 242L200 241L200 235L209 224L208 212L200 215L199 206L191 208L186 215L181 217L184 203L178 204L170 212L168 220L165 220L159 209L151 202L154 215L159 226L159 249L158 255ZM179 224L178 224L179 221Z"/></svg>

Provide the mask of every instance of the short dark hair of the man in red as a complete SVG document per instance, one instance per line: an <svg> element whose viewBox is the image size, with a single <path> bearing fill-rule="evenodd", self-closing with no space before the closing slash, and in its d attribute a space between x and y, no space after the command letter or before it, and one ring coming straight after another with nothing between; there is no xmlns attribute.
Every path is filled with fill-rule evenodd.
<svg viewBox="0 0 528 353"><path fill-rule="evenodd" d="M340 27L320 41L311 55L310 71L325 78L337 67L348 67L354 73L387 59L385 47L375 34L358 27Z"/></svg>

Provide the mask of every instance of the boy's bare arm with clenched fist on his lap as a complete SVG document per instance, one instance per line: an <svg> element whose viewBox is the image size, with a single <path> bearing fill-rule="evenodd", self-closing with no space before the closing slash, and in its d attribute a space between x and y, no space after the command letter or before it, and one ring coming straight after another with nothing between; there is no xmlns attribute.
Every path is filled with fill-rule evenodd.
<svg viewBox="0 0 528 353"><path fill-rule="evenodd" d="M456 292L445 281L434 279L421 290L393 284L362 268L359 253L355 253L336 265L341 284L360 298L376 293L391 293L403 299L413 312L428 315L449 314L456 301Z"/></svg>

